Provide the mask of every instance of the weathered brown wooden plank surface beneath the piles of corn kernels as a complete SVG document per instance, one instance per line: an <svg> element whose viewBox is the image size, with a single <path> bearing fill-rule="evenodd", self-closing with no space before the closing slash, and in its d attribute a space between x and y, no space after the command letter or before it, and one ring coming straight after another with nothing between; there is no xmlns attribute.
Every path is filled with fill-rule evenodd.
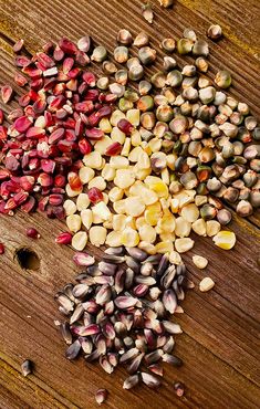
<svg viewBox="0 0 260 409"><path fill-rule="evenodd" d="M177 39L187 27L204 36L209 23L218 22L225 39L210 43L209 76L219 67L230 70L235 84L230 94L247 102L259 116L258 0L179 0L170 11L160 9L156 2L153 25L142 19L141 3L0 0L0 83L13 84L11 45L19 38L25 40L27 49L33 53L48 40L56 41L62 35L76 40L90 33L95 42L112 51L119 28L128 28L133 34L144 29L158 49L164 36ZM191 59L178 61L183 64ZM42 239L32 242L24 237L29 226L37 227ZM71 261L72 250L53 244L63 224L40 214L19 212L13 218L1 217L0 241L6 243L7 251L0 256L0 408L96 408L94 392L100 387L110 390L104 407L116 409L259 408L258 227L258 216L250 221L236 218L231 228L238 242L230 252L218 250L210 239L196 238L194 251L185 256L190 275L196 284L205 275L193 265L193 253L206 255L210 260L207 275L217 284L207 294L196 287L183 304L186 313L177 321L184 334L176 337L176 354L185 365L178 370L166 367L165 385L158 391L147 387L123 391L124 369L108 376L98 365L86 366L83 359L70 363L64 358L65 346L53 324L61 318L53 295L73 280L76 269ZM20 268L14 254L21 247L34 250L40 259L39 270ZM35 363L34 374L28 378L20 375L25 358ZM185 382L185 397L176 397L175 380Z"/></svg>

